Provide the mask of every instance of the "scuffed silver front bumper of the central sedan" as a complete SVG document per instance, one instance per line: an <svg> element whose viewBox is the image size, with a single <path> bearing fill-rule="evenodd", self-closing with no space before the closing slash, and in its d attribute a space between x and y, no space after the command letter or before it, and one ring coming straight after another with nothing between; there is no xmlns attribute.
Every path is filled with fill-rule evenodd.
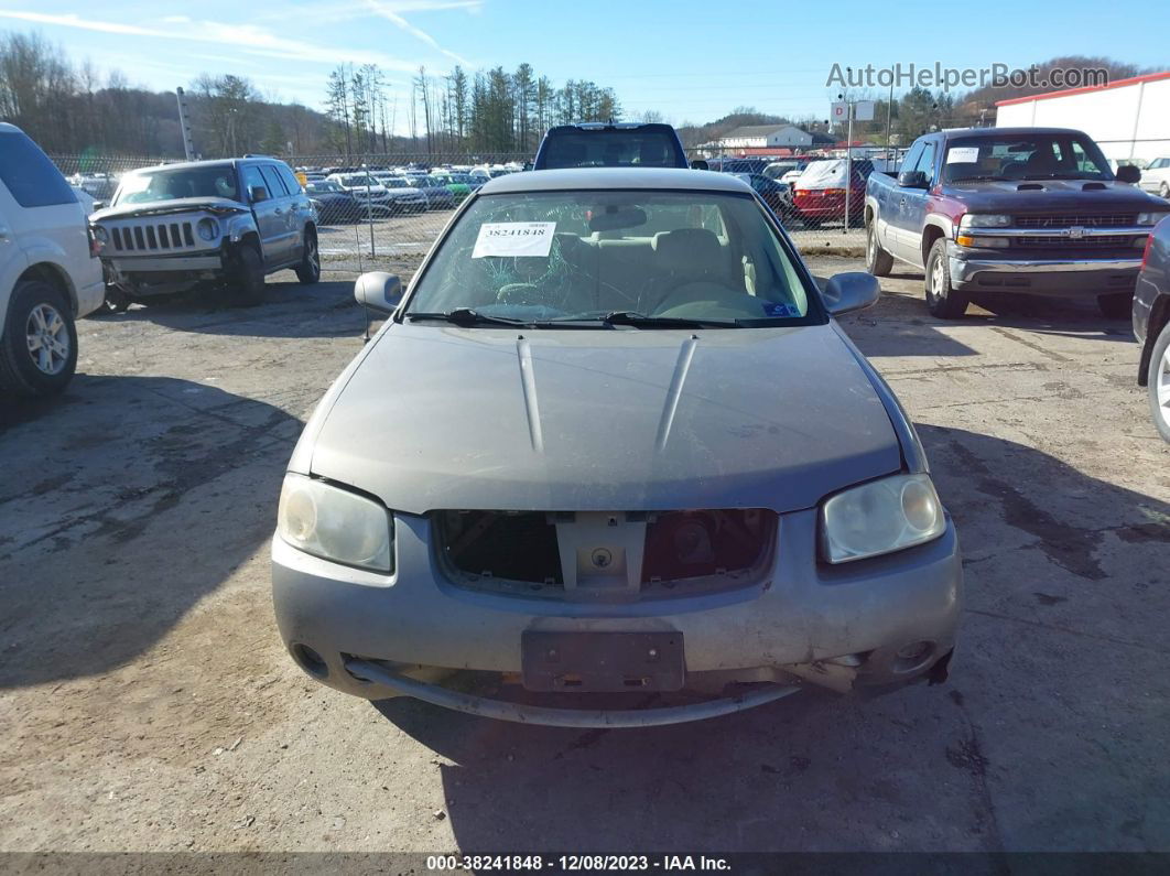
<svg viewBox="0 0 1170 876"><path fill-rule="evenodd" d="M281 635L322 683L369 699L410 696L474 715L558 726L648 726L727 715L804 684L839 692L945 677L961 612L962 563L954 525L928 544L827 566L817 559L814 510L780 517L758 586L634 602L567 602L454 586L427 517L395 516L395 572L338 566L273 540L273 595ZM557 692L586 708L553 709L523 687L526 634L666 634L681 637L681 691ZM456 676L491 676L504 695L481 696ZM452 682L455 682L454 684ZM707 698L648 708L647 694ZM634 708L626 708L632 705Z"/></svg>

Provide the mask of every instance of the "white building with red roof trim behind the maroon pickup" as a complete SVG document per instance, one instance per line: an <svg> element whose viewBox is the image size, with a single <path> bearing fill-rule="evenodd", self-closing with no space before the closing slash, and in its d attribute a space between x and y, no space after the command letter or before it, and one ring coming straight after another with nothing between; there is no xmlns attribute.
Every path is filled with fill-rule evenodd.
<svg viewBox="0 0 1170 876"><path fill-rule="evenodd" d="M996 126L1075 127L1096 140L1106 158L1144 165L1170 156L1170 70L1000 101Z"/></svg>

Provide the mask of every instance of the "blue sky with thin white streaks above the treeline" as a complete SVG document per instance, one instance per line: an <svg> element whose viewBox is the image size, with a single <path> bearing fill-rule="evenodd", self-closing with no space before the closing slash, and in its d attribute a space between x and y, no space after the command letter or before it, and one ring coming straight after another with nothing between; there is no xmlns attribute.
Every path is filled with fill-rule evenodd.
<svg viewBox="0 0 1170 876"><path fill-rule="evenodd" d="M442 75L455 63L514 69L528 61L557 84L612 85L629 118L656 110L675 124L738 105L825 117L838 90L825 84L834 62L982 68L1106 55L1170 67L1159 29L1119 26L1096 0L1065 0L1059 12L1018 0L885 11L840 0L0 0L0 29L37 29L75 61L121 69L133 84L168 90L200 73L235 73L311 106L344 61L379 64L399 108L420 64Z"/></svg>

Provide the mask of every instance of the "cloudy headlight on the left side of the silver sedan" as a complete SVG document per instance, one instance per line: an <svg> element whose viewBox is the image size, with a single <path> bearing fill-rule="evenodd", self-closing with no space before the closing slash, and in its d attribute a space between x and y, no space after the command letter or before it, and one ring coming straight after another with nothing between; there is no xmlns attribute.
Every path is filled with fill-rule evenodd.
<svg viewBox="0 0 1170 876"><path fill-rule="evenodd" d="M393 519L386 509L324 481L284 476L276 531L284 542L314 557L376 572L393 571Z"/></svg>

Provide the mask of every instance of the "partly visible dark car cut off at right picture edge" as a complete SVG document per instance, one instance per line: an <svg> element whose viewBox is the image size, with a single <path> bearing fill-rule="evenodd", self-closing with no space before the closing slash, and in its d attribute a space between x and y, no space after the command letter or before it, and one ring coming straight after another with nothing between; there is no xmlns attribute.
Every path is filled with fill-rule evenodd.
<svg viewBox="0 0 1170 876"><path fill-rule="evenodd" d="M1170 441L1170 218L1145 243L1134 290L1134 336L1142 345L1137 382L1149 388L1154 425Z"/></svg>

